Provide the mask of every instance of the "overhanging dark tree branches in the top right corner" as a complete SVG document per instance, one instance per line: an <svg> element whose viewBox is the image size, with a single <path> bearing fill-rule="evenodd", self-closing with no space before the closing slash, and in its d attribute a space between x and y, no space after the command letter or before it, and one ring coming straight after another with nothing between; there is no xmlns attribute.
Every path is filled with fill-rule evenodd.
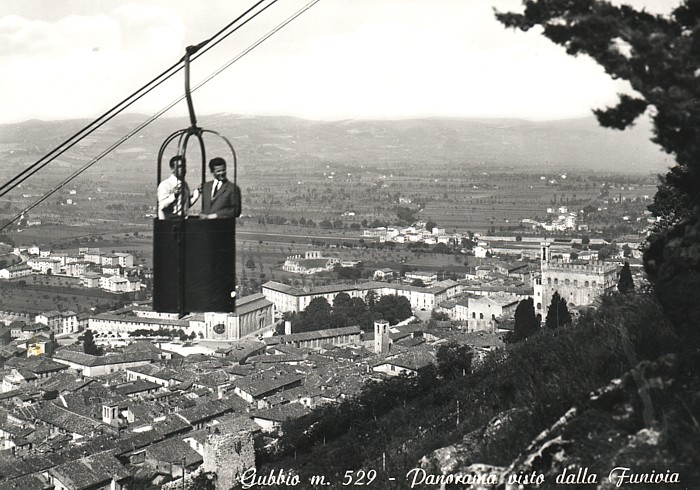
<svg viewBox="0 0 700 490"><path fill-rule="evenodd" d="M602 0L524 4L523 14L496 17L524 31L539 25L568 54L588 55L612 78L627 80L636 95L620 95L616 106L595 110L598 121L624 129L653 107L653 141L673 154L679 166L666 182L695 199L700 192L700 0L682 1L669 16ZM676 179L677 174L685 178Z"/></svg>

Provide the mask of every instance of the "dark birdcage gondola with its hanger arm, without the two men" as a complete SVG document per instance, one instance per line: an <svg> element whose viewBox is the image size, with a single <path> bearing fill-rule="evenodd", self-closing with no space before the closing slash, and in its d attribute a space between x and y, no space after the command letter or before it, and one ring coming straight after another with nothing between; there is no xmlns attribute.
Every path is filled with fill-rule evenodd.
<svg viewBox="0 0 700 490"><path fill-rule="evenodd" d="M177 141L176 156L186 159L191 138L199 143L202 182L206 178L204 135L222 139L232 154L233 183L237 179L236 152L231 142L215 131L197 126L189 84L190 56L185 54L185 95L190 127L172 133L158 152L157 182L161 182L163 155ZM178 176L176 176L178 177ZM179 177L178 177L179 179ZM181 196L182 198L182 196ZM182 209L182 208L181 208ZM197 219L181 212L176 219L153 222L153 309L158 312L233 312L236 286L236 219Z"/></svg>

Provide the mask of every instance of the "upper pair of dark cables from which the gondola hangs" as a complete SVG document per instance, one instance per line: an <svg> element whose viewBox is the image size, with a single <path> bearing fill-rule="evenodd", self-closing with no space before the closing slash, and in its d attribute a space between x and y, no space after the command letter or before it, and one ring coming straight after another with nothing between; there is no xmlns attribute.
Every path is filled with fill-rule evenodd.
<svg viewBox="0 0 700 490"><path fill-rule="evenodd" d="M236 26L233 28L233 26L241 21L245 16L250 14L253 10L255 10L257 7L259 7L262 3L264 3L267 0L259 0L256 2L252 7L247 9L245 12L243 12L241 15L239 15L236 19L234 19L232 22L230 22L228 25L226 25L223 29L221 29L219 32L214 34L212 37L209 39L203 41L202 43L197 45L197 50L193 52L192 54L192 60L195 60L205 54L207 51L210 49L214 48L216 45L218 45L221 41L226 39L228 36L236 32L238 29L246 25L248 22L253 20L255 17L260 15L262 12L267 10L269 7L277 3L278 0L271 0L267 5L265 5L263 8L258 10L256 13L254 13L250 18L246 19L244 22L242 22L240 25ZM230 32L227 32L229 31ZM217 39L219 38L219 39ZM214 41L216 39L216 41ZM143 98L145 95L150 93L152 90L155 88L159 87L162 83L170 79L173 75L178 73L182 68L184 67L184 60L181 59L177 63L173 64L169 68L167 68L165 71L163 71L160 75L156 76L154 79L143 85L141 88L133 92L131 95L123 99L121 102L113 106L111 109L103 113L101 116L93 120L90 124L79 130L77 133L74 133L70 138L66 139L65 141L61 142L56 148L51 150L49 153L41 157L39 160L31 164L29 167L25 168L22 170L20 173L18 173L16 176L12 177L10 180L5 182L4 184L0 185L0 197L4 196L8 192L10 192L13 188L15 188L17 185L25 182L27 179L32 177L34 174L42 170L44 167L46 167L48 164L50 164L52 161L54 161L56 158L59 156L63 155L66 151L71 149L73 146L75 146L77 143L79 143L81 140L86 138L87 136L91 135L93 132L95 132L97 129L102 127L105 123L109 122L112 120L114 117L122 113L125 109L133 105L135 102Z"/></svg>

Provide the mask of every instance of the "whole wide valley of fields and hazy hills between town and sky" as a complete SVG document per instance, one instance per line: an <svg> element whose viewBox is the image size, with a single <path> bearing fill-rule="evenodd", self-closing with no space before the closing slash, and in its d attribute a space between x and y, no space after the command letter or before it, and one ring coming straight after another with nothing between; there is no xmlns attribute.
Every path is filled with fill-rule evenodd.
<svg viewBox="0 0 700 490"><path fill-rule="evenodd" d="M0 222L138 122L137 115L115 120L17 186L0 199ZM0 180L26 168L83 123L28 122L5 128L2 135L11 151L3 153ZM40 225L11 228L0 242L68 252L99 247L132 253L136 265L151 267L156 152L182 123L165 119L149 126L25 216L28 223ZM637 234L646 225L644 211L656 191L656 175L668 165L647 135L605 131L592 119L317 122L214 115L202 123L230 136L238 155L243 216L237 225L236 263L243 293L259 291L268 280L300 286L337 282L332 273L301 277L282 271L286 257L309 250L362 261L368 271L403 265L462 274L476 263L459 253L363 247L371 243L363 239L363 230L380 225L421 220L433 221L447 233L542 235L522 220L545 220L548 208L566 206L573 212L587 210L580 217L591 236ZM207 154L226 151L212 147ZM188 152L190 162L197 159L196 151ZM192 188L202 180L197 165L192 163L187 174ZM167 175L167 168L163 172ZM0 260L13 260L7 253L0 249ZM17 291L7 294L3 301L31 301L41 308L95 307L94 301L59 293L56 299L43 291L25 300L15 297Z"/></svg>

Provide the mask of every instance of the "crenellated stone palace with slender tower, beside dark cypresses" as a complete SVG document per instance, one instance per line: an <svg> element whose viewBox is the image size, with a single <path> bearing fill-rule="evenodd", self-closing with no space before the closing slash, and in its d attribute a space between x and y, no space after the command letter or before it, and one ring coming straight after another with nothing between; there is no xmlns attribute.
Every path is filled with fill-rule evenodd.
<svg viewBox="0 0 700 490"><path fill-rule="evenodd" d="M602 261L553 261L548 242L541 247L542 274L535 278L535 312L547 315L555 292L570 306L592 304L617 285L617 266Z"/></svg>

